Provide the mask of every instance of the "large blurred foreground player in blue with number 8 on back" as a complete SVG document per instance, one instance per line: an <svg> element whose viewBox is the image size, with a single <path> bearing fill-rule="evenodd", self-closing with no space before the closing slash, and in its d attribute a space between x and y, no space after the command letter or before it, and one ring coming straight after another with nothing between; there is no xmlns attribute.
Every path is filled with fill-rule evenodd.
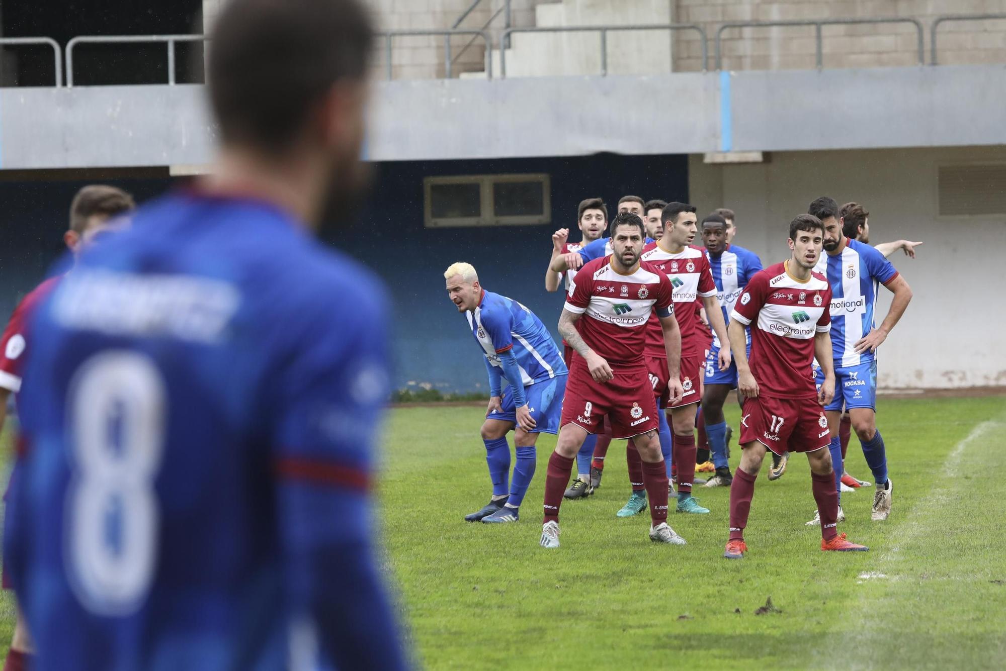
<svg viewBox="0 0 1006 671"><path fill-rule="evenodd" d="M4 529L35 671L405 667L370 511L388 299L313 239L363 184L371 35L355 0L232 0L211 175L35 311Z"/></svg>

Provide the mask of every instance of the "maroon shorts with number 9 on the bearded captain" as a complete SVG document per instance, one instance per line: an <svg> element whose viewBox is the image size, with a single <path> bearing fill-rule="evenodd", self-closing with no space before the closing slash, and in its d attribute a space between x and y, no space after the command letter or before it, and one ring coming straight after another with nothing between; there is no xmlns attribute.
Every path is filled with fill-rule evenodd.
<svg viewBox="0 0 1006 671"><path fill-rule="evenodd" d="M612 380L595 382L583 358L573 360L566 381L559 426L572 423L593 434L602 429L602 423L608 417L615 440L657 429L657 403L646 366L642 363L638 366L613 366L612 372L615 374Z"/></svg>

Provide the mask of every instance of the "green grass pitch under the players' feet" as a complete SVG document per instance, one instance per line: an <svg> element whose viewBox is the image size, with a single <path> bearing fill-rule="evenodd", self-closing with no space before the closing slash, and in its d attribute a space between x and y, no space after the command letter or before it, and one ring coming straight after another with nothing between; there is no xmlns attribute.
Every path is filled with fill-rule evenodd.
<svg viewBox="0 0 1006 671"><path fill-rule="evenodd" d="M539 440L520 522L463 521L488 497L481 417L398 409L386 435L385 544L428 668L1002 668L1006 398L881 400L893 512L870 521L862 489L843 496L840 527L869 552L821 552L820 530L804 525L815 508L805 458L779 481L763 473L741 562L721 558L725 488L698 492L711 514L672 513L683 547L650 542L645 513L615 517L623 442L598 493L563 504L557 550L537 545L552 436ZM855 437L847 469L869 476ZM756 615L769 597L780 612Z"/></svg>

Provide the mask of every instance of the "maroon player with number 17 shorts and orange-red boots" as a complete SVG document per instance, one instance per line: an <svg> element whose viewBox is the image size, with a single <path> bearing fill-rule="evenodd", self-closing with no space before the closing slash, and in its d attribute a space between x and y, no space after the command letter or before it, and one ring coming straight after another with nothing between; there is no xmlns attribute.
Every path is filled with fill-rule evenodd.
<svg viewBox="0 0 1006 671"><path fill-rule="evenodd" d="M814 499L821 514L821 549L866 550L839 534L838 492L828 445L831 438L823 406L835 395L831 352L831 287L813 271L821 256L824 225L799 215L790 223L790 259L754 274L730 312L730 345L737 365L737 389L744 396L740 419L740 464L730 484L730 535L723 556L739 560L747 551L744 527L762 460L776 454L806 452ZM747 360L744 326L751 327ZM812 363L824 369L820 391Z"/></svg>

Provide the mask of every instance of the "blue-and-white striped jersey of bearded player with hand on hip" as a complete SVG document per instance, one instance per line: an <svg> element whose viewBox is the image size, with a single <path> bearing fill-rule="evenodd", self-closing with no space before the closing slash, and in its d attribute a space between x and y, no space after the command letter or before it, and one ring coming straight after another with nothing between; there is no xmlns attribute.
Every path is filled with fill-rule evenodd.
<svg viewBox="0 0 1006 671"><path fill-rule="evenodd" d="M831 347L835 366L873 361L872 352L856 354L855 344L873 328L876 283L886 284L897 270L884 255L863 242L845 239L838 254L827 252L814 268L831 285Z"/></svg>

